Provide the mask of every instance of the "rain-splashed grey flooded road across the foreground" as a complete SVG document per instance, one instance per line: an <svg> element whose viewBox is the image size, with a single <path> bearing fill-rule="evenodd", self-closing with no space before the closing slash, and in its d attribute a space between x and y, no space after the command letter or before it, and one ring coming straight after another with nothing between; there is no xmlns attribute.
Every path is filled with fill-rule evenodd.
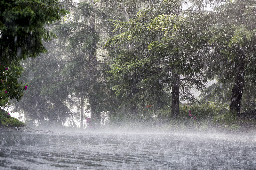
<svg viewBox="0 0 256 170"><path fill-rule="evenodd" d="M0 131L1 170L255 168L255 134Z"/></svg>

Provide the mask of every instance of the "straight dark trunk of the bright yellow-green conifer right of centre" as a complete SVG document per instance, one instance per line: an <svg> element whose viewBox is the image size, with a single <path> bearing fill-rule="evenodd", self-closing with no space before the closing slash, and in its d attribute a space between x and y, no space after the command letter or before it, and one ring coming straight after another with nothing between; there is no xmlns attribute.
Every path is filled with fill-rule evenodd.
<svg viewBox="0 0 256 170"><path fill-rule="evenodd" d="M173 74L172 84L172 119L176 119L180 114L180 75Z"/></svg>

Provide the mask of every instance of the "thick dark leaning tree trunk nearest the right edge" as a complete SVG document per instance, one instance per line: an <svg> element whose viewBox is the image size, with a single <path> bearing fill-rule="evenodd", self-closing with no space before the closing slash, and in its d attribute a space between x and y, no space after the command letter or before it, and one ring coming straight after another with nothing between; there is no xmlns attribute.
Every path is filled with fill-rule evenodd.
<svg viewBox="0 0 256 170"><path fill-rule="evenodd" d="M239 50L236 59L236 77L235 84L233 86L231 92L231 101L230 101L230 110L229 114L231 117L237 118L240 116L241 111L241 101L244 91L244 65L245 65L245 55L243 54L243 50Z"/></svg>

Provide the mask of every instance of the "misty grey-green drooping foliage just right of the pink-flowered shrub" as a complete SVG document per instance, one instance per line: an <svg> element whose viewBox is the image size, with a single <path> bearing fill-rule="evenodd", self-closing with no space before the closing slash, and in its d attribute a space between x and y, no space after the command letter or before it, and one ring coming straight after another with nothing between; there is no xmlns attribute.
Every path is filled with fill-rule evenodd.
<svg viewBox="0 0 256 170"><path fill-rule="evenodd" d="M46 48L49 48L51 43L46 44ZM60 75L64 63L56 63L58 60L52 57L56 54L60 54L60 51L49 50L40 57L27 59L22 63L25 70L20 80L27 82L29 89L24 93L22 100L11 102L14 104L13 111L24 113L28 120L40 123L46 119L62 125L67 118L75 115L70 110L74 102L68 97L71 93L69 82Z"/></svg>

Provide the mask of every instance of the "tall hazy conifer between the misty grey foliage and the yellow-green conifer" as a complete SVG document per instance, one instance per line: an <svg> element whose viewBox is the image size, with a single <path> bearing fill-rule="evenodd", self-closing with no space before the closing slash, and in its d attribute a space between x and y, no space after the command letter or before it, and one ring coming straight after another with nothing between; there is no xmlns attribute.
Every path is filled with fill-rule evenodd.
<svg viewBox="0 0 256 170"><path fill-rule="evenodd" d="M72 93L81 99L80 106L84 106L83 99L88 101L87 107L91 117L96 118L98 123L100 113L106 111L106 101L109 101L109 91L104 85L108 61L102 48L102 41L110 36L110 30L113 29L108 19L122 18L118 14L118 2L81 1L72 11L72 16L55 28L66 53L66 64L61 74L69 80ZM81 127L84 119L82 111L81 107Z"/></svg>

